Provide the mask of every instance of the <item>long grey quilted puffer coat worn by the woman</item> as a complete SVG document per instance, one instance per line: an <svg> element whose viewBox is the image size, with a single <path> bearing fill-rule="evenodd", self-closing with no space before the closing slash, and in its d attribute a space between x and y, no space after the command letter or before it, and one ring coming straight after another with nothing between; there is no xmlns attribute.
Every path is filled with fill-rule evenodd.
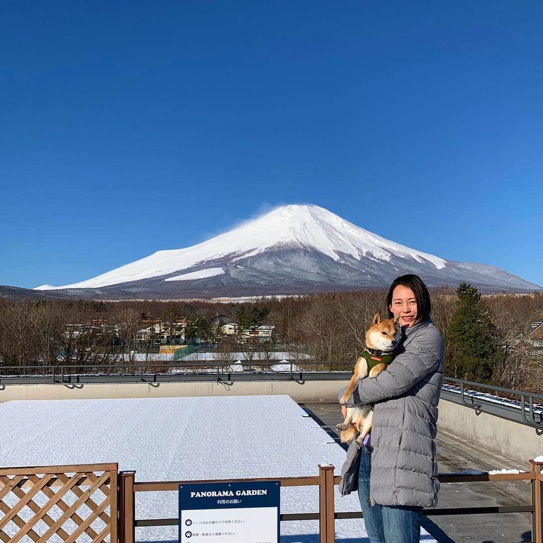
<svg viewBox="0 0 543 543"><path fill-rule="evenodd" d="M375 378L358 383L347 407L375 403L371 428L370 502L434 507L439 481L434 438L443 383L444 342L428 317L402 330L394 360ZM339 391L342 397L345 389ZM353 441L339 491L358 488L361 450Z"/></svg>

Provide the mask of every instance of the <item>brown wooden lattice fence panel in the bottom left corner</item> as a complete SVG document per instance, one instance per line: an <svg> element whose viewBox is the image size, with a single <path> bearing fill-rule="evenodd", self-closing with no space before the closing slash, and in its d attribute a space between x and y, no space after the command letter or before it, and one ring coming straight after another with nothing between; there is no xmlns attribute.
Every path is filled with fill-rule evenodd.
<svg viewBox="0 0 543 543"><path fill-rule="evenodd" d="M0 511L5 543L117 543L117 464L2 468Z"/></svg>

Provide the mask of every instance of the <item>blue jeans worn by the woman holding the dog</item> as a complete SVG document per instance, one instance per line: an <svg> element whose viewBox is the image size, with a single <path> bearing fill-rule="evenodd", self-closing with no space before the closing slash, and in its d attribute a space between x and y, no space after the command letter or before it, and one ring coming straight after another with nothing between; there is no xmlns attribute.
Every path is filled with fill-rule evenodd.
<svg viewBox="0 0 543 543"><path fill-rule="evenodd" d="M419 543L421 507L370 506L371 452L360 454L358 499L370 543Z"/></svg>

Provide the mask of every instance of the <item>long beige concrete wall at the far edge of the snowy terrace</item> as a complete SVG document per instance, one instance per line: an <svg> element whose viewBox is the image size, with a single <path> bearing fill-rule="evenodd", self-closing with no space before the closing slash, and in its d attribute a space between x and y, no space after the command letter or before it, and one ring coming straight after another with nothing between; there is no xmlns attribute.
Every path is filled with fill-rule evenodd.
<svg viewBox="0 0 543 543"><path fill-rule="evenodd" d="M261 396L286 394L300 403L336 403L338 390L349 381L249 381L230 386L201 383L86 383L8 384L0 388L0 403L9 400L77 400L100 398L146 398L175 396Z"/></svg>

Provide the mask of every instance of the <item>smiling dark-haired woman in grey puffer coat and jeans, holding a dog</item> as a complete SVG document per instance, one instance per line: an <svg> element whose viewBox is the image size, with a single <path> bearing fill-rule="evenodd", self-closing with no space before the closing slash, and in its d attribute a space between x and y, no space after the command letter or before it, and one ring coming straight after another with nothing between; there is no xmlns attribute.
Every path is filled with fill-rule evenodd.
<svg viewBox="0 0 543 543"><path fill-rule="evenodd" d="M418 543L422 508L434 507L439 491L434 437L444 343L420 277L398 277L386 307L389 318L400 315L402 338L387 370L360 381L346 404L375 406L369 443L351 443L339 490L358 489L371 543Z"/></svg>

